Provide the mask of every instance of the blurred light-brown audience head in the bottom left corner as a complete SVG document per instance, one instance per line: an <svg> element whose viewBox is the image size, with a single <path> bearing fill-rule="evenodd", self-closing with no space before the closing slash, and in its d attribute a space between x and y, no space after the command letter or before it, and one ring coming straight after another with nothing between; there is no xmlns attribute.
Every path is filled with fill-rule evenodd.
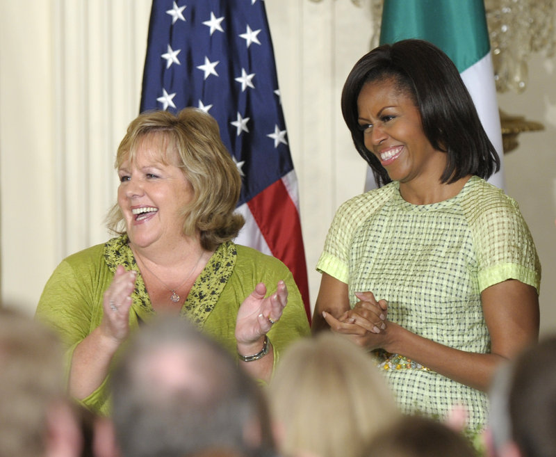
<svg viewBox="0 0 556 457"><path fill-rule="evenodd" d="M62 346L38 321L0 307L0 457L76 457Z"/></svg>

